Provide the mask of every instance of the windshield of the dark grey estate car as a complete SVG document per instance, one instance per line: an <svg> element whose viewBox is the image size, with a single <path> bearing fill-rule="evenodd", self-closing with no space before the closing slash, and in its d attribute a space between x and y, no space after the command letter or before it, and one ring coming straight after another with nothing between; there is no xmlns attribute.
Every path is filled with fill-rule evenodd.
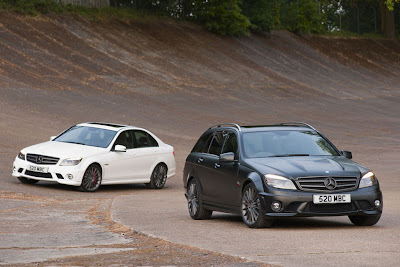
<svg viewBox="0 0 400 267"><path fill-rule="evenodd" d="M314 131L245 133L243 147L248 158L339 155L332 145Z"/></svg>

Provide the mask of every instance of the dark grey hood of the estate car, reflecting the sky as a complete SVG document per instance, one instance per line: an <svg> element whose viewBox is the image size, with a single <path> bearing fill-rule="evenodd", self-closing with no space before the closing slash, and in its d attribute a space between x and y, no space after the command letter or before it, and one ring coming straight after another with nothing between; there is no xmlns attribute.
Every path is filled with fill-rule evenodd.
<svg viewBox="0 0 400 267"><path fill-rule="evenodd" d="M288 178L308 176L356 176L368 172L361 165L345 157L282 157L255 158L245 161L262 174L277 174Z"/></svg>

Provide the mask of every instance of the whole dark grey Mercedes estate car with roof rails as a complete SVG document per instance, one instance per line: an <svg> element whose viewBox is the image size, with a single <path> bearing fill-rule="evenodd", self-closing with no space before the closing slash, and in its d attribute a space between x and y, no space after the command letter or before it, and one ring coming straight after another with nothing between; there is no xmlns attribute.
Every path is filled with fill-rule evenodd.
<svg viewBox="0 0 400 267"><path fill-rule="evenodd" d="M190 216L236 213L252 228L295 216L346 215L374 225L382 213L378 180L351 158L305 123L213 126L186 159Z"/></svg>

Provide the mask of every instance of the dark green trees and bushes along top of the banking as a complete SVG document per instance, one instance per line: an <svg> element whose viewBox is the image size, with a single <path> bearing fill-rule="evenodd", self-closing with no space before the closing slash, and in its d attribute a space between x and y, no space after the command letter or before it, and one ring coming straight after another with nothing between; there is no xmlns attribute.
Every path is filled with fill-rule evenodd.
<svg viewBox="0 0 400 267"><path fill-rule="evenodd" d="M56 2L61 1L0 0L0 8L8 5L31 15L50 9L65 10L66 7L61 8ZM393 32L395 25L400 24L397 2L387 2L393 13L386 10L386 0L110 0L118 10L190 20L215 33L233 36L275 29L295 33L385 35L388 27ZM394 16L388 20L387 14Z"/></svg>

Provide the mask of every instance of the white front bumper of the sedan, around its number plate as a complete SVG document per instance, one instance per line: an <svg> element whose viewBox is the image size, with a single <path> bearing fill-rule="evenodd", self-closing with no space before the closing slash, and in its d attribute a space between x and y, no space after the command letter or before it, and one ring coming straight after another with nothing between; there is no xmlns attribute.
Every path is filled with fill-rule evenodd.
<svg viewBox="0 0 400 267"><path fill-rule="evenodd" d="M29 166L45 167L48 172L32 172ZM59 166L59 165L37 165L19 158L16 158L13 165L12 176L25 177L32 180L58 182L60 184L79 186L82 182L82 171L78 166Z"/></svg>

